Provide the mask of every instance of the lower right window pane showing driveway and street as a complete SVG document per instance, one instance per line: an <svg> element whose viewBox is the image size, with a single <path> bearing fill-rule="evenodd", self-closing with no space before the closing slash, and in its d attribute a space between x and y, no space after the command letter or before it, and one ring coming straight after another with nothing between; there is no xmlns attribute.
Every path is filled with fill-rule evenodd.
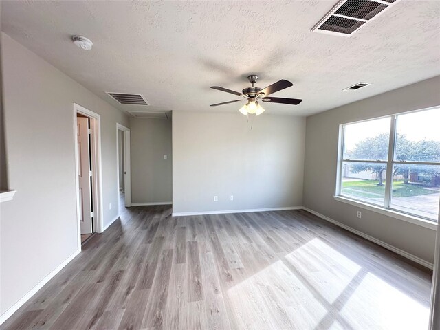
<svg viewBox="0 0 440 330"><path fill-rule="evenodd" d="M437 221L440 166L395 164L391 208Z"/></svg>

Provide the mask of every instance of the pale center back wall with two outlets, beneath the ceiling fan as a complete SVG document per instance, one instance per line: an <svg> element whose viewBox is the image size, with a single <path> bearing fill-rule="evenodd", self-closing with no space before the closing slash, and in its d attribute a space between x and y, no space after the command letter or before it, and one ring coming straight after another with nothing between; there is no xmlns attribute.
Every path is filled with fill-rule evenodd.
<svg viewBox="0 0 440 330"><path fill-rule="evenodd" d="M303 205L305 118L269 112L173 113L173 212Z"/></svg>

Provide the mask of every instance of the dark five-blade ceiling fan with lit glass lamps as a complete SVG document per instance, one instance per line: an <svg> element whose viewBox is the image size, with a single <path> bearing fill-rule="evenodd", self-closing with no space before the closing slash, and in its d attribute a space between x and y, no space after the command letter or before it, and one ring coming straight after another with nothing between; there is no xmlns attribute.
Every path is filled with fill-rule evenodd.
<svg viewBox="0 0 440 330"><path fill-rule="evenodd" d="M219 86L212 86L212 89L217 89L219 91L225 91L226 93L234 94L236 96L241 96L244 99L241 100L233 100L228 102L221 102L217 104L211 104L211 107L217 107L218 105L223 104L229 104L234 102L240 102L244 100L248 100L248 102L241 107L239 110L243 115L252 115L255 113L255 115L261 115L265 111L263 107L259 104L258 101L263 102L272 102L272 103L282 103L282 104L292 104L297 105L300 104L302 100L298 98L273 98L269 97L268 95L275 93L276 91L281 91L282 89L285 89L287 87L291 87L294 84L291 82L281 79L277 81L276 83L267 86L265 88L260 87L254 87L256 80L259 78L256 74L251 74L248 76L249 82L251 83L251 87L243 89L243 91L240 93L239 91L232 91L230 89L226 89Z"/></svg>

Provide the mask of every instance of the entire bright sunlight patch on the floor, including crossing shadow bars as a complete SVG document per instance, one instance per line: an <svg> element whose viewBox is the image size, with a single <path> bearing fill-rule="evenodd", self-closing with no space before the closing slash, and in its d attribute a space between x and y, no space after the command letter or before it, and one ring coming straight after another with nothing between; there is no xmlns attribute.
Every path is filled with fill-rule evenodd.
<svg viewBox="0 0 440 330"><path fill-rule="evenodd" d="M318 238L231 287L228 298L243 329L428 326L428 307Z"/></svg>

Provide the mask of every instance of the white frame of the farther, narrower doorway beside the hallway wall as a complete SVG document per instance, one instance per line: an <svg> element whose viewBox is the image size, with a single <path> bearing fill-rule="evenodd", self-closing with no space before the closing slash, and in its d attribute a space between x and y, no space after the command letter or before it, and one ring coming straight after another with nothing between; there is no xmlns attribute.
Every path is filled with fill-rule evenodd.
<svg viewBox="0 0 440 330"><path fill-rule="evenodd" d="M119 131L124 132L124 188L125 188L125 207L131 206L131 151L130 151L130 129L124 125L116 123L116 179L119 186ZM119 194L119 189L118 189ZM118 195L119 210L119 195Z"/></svg>

